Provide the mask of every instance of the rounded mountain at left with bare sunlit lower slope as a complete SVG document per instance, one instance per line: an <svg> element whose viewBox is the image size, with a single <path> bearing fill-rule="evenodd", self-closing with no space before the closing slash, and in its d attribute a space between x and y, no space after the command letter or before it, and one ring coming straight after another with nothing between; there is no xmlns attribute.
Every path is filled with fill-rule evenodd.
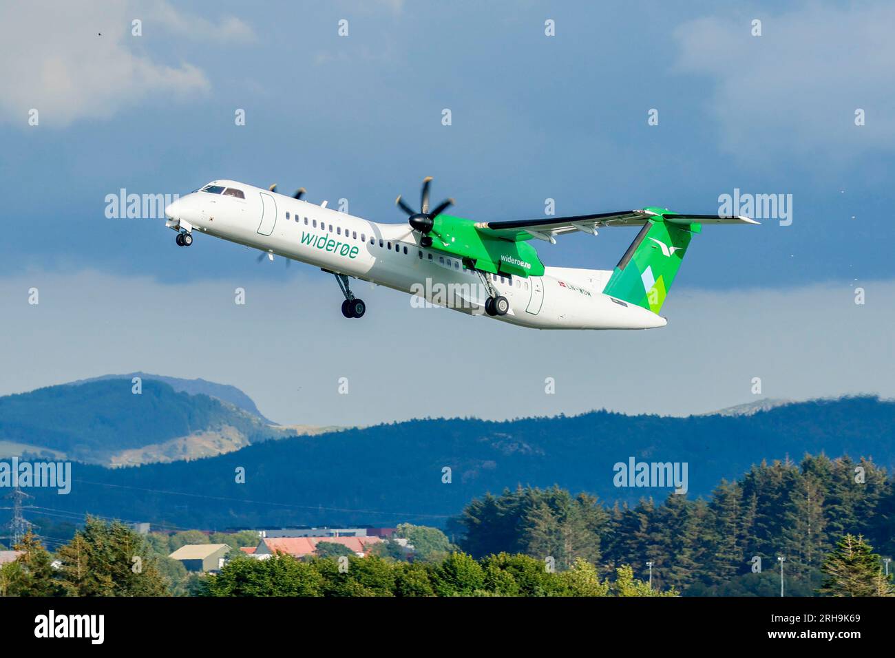
<svg viewBox="0 0 895 658"><path fill-rule="evenodd" d="M218 455L285 434L259 414L164 381L145 379L134 394L127 377L0 397L0 456L136 465ZM205 388L233 388L215 387Z"/></svg>

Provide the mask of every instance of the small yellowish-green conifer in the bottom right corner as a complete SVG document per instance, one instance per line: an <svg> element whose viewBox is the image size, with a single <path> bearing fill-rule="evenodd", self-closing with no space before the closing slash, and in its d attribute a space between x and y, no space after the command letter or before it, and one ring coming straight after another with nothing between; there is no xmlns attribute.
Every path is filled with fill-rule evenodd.
<svg viewBox="0 0 895 658"><path fill-rule="evenodd" d="M826 596L893 596L891 576L862 535L846 534L821 567L826 578L818 594Z"/></svg>

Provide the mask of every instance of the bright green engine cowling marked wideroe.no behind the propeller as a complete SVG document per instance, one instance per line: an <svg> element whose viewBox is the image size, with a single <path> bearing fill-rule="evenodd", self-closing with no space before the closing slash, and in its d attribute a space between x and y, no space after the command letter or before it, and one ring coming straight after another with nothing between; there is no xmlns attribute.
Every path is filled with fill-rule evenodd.
<svg viewBox="0 0 895 658"><path fill-rule="evenodd" d="M476 269L516 277L544 274L544 265L531 244L482 235L470 219L439 215L429 235L434 249L461 258Z"/></svg>

